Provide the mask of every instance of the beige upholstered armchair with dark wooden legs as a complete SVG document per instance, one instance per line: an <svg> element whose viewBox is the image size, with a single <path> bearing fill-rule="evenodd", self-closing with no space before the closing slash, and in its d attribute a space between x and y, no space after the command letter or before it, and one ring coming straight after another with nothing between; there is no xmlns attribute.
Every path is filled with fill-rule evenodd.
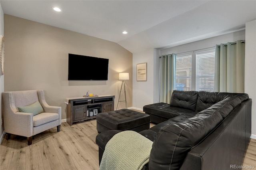
<svg viewBox="0 0 256 170"><path fill-rule="evenodd" d="M2 93L3 119L6 139L11 134L26 136L28 145L32 144L32 136L57 127L60 131L61 107L49 106L44 98L43 90L10 91ZM18 107L24 107L39 102L43 112L38 115L19 112Z"/></svg>

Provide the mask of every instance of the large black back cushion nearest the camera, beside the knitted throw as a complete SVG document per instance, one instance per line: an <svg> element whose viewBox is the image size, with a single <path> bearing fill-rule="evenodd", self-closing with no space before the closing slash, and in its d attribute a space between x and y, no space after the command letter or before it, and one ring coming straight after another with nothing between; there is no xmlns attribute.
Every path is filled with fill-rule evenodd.
<svg viewBox="0 0 256 170"><path fill-rule="evenodd" d="M210 110L208 114L200 113L186 121L162 128L152 145L148 168L180 169L189 150L206 137L221 121L220 113Z"/></svg>

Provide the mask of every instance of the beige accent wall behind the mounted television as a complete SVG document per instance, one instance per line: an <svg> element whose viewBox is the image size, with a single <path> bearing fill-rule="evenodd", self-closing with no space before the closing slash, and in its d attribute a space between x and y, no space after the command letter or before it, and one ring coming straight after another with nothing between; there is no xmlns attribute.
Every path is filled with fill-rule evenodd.
<svg viewBox="0 0 256 170"><path fill-rule="evenodd" d="M115 95L116 109L122 83L118 73L128 72L127 101L132 107L132 53L117 43L6 14L4 35L4 91L44 89L48 104L61 106L62 119L66 119L65 98L79 97L86 91ZM108 81L68 81L68 53L108 58ZM90 63L84 63L85 73L90 74L93 70L86 70L86 64ZM118 105L118 109L124 107L124 103Z"/></svg>

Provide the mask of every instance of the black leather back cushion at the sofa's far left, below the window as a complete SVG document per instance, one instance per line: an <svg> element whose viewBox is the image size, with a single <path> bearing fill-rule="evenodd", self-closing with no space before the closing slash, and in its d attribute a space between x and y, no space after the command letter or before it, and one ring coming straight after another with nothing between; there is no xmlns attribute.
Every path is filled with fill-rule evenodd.
<svg viewBox="0 0 256 170"><path fill-rule="evenodd" d="M170 106L179 107L183 109L196 110L197 91L180 91L174 90Z"/></svg>

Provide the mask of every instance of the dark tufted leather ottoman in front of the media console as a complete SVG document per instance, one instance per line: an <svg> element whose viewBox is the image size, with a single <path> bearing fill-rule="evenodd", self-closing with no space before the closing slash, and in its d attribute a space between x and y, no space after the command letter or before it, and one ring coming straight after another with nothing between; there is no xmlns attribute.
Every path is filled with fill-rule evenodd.
<svg viewBox="0 0 256 170"><path fill-rule="evenodd" d="M129 109L120 109L98 113L96 121L98 133L106 130L134 130L140 132L149 129L150 116Z"/></svg>

